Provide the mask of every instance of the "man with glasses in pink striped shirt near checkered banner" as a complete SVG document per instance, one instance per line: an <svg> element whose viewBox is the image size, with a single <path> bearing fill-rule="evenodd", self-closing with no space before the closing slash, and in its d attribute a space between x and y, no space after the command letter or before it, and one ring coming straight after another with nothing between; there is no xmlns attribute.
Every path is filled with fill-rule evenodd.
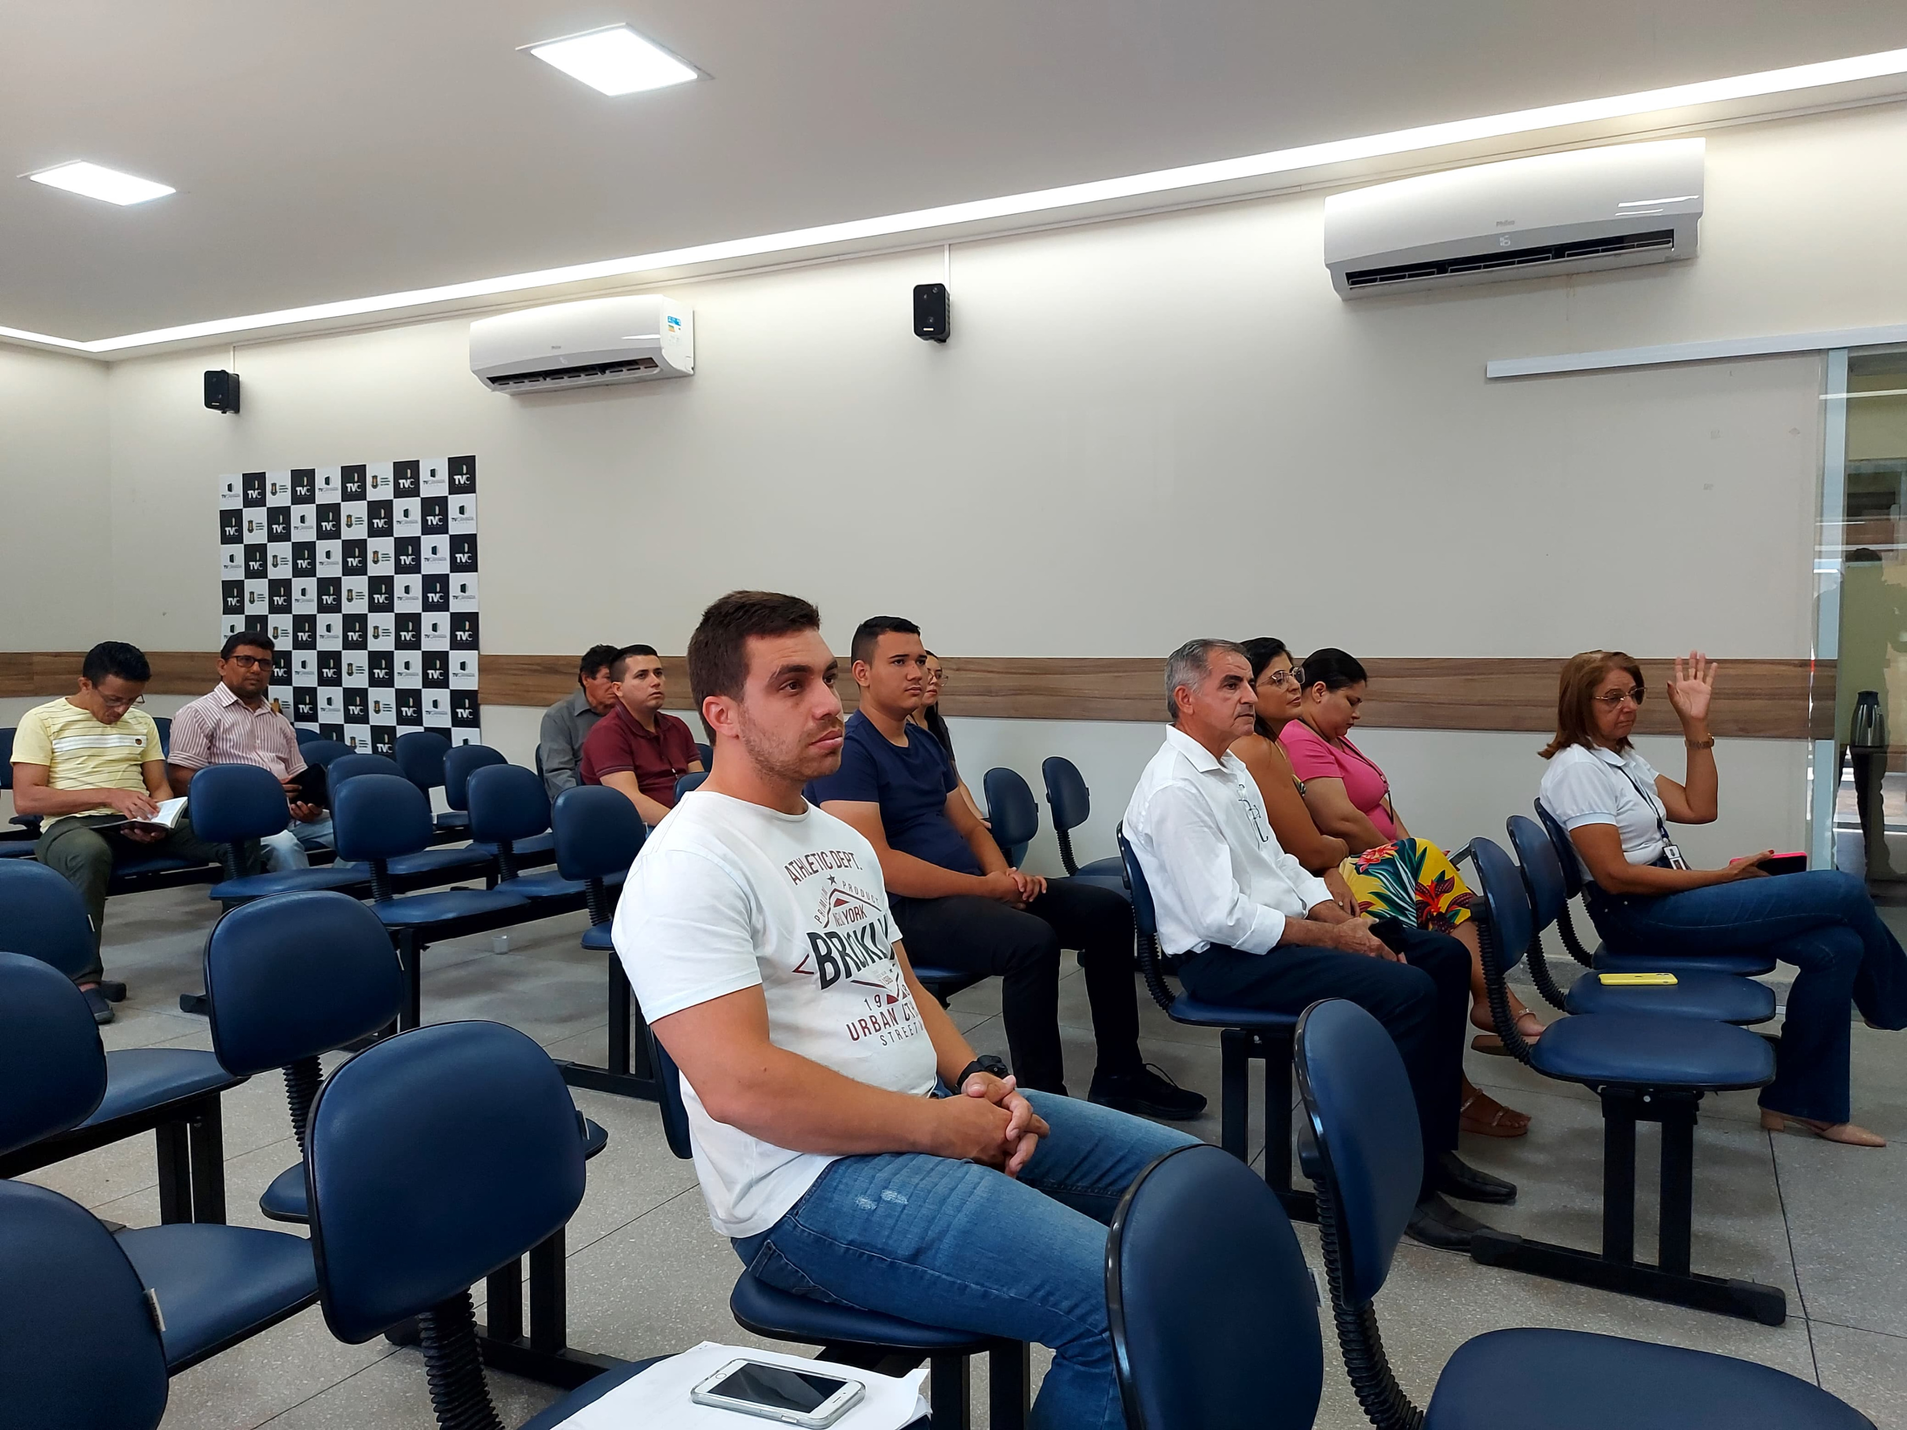
<svg viewBox="0 0 1907 1430"><path fill-rule="evenodd" d="M330 816L303 803L297 776L305 757L297 732L265 698L271 688L273 641L263 631L225 637L219 650L219 684L172 717L172 753L166 755L172 787L185 789L195 770L208 765L257 765L271 770L292 807L292 826L259 841L265 868L303 869L303 841L330 839Z"/></svg>

